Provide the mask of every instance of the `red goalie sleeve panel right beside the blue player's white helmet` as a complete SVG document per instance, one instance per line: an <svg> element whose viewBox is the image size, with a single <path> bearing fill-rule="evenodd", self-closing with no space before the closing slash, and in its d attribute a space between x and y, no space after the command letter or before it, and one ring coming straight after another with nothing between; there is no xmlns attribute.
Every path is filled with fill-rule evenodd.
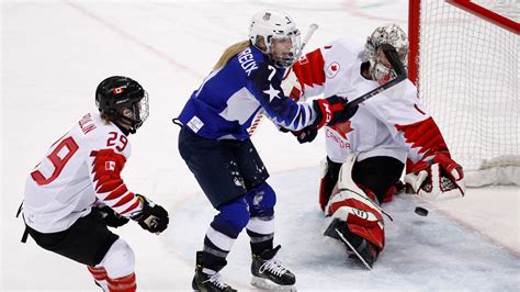
<svg viewBox="0 0 520 292"><path fill-rule="evenodd" d="M294 74L298 78L302 88L304 85L308 87L323 86L325 83L325 59L321 50L318 48L305 55L302 59L293 65Z"/></svg>

